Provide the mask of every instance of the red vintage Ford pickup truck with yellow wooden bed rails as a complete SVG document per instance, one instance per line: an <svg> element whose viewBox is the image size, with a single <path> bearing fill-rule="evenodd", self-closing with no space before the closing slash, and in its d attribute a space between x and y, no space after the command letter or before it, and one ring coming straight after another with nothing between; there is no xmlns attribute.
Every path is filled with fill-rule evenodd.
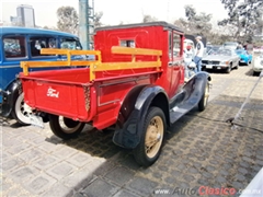
<svg viewBox="0 0 263 197"><path fill-rule="evenodd" d="M62 139L78 136L84 124L98 129L114 125L114 143L132 149L140 165L151 165L167 128L195 106L204 111L207 105L210 77L198 72L185 83L183 43L176 26L151 22L96 28L94 50L42 49L68 60L21 62L24 100L35 112L32 123L49 120ZM73 55L95 59L70 60ZM28 72L58 65L83 68Z"/></svg>

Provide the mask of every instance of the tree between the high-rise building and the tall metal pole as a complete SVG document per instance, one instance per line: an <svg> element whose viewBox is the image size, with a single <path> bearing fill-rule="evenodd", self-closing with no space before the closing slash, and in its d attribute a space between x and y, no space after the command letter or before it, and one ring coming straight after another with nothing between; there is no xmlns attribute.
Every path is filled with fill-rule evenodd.
<svg viewBox="0 0 263 197"><path fill-rule="evenodd" d="M73 7L60 7L57 10L59 31L78 34L79 18Z"/></svg>

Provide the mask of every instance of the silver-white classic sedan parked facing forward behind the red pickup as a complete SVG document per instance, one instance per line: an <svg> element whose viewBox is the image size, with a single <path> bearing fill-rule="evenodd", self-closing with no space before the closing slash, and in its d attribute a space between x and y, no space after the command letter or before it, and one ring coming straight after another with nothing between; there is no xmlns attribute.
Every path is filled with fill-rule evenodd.
<svg viewBox="0 0 263 197"><path fill-rule="evenodd" d="M213 55L205 56L202 59L203 69L224 70L229 73L233 68L239 68L240 57L233 49L219 49Z"/></svg>

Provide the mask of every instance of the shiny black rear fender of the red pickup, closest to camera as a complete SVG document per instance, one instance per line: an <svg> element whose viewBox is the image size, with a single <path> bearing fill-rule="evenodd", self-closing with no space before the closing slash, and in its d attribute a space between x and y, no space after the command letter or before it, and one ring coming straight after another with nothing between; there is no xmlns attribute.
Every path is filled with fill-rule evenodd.
<svg viewBox="0 0 263 197"><path fill-rule="evenodd" d="M150 106L162 108L167 123L170 124L169 100L163 88L158 85L144 86L140 92L136 92L129 96L136 96L136 102L132 103L134 108L130 111L127 119L119 121L117 125L117 129L113 136L113 142L123 148L134 149L140 141L141 128Z"/></svg>

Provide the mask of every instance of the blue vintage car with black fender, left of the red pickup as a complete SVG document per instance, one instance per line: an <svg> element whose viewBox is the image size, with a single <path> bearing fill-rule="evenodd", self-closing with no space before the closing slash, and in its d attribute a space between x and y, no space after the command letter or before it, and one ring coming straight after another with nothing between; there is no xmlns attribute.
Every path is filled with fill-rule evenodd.
<svg viewBox="0 0 263 197"><path fill-rule="evenodd" d="M76 35L39 28L0 27L0 106L1 116L13 117L20 124L30 123L31 107L24 103L24 94L16 74L22 71L20 61L54 61L67 59L64 55L43 55L42 48L81 49ZM75 56L73 59L83 59ZM47 70L58 68L34 68ZM31 69L32 70L32 69Z"/></svg>

